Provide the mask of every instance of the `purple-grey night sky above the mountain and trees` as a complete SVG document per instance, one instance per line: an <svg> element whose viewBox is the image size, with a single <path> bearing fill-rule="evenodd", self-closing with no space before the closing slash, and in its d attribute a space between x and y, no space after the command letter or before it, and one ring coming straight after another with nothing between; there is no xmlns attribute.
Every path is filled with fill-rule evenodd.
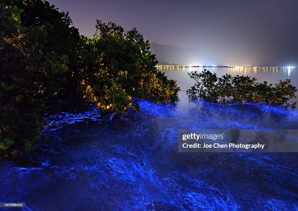
<svg viewBox="0 0 298 211"><path fill-rule="evenodd" d="M297 0L49 2L88 37L99 19L136 27L150 43L197 47L223 65L298 65Z"/></svg>

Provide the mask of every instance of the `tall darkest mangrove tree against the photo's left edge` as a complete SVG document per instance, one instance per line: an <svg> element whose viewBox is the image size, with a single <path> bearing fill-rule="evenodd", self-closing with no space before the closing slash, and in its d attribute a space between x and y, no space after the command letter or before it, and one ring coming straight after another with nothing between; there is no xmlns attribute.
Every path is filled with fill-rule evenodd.
<svg viewBox="0 0 298 211"><path fill-rule="evenodd" d="M63 40L49 40L62 36L62 30L78 32L75 28L70 32L68 23L55 21L67 20L67 16L47 3L14 3L27 13L17 6L1 4L0 152L16 156L22 152L31 155L37 147L44 125L41 109L47 107L49 97L63 90L69 75L69 58L57 49ZM35 9L37 6L40 10ZM45 16L49 14L52 16ZM69 42L63 49L71 48L70 38L65 35L63 39Z"/></svg>

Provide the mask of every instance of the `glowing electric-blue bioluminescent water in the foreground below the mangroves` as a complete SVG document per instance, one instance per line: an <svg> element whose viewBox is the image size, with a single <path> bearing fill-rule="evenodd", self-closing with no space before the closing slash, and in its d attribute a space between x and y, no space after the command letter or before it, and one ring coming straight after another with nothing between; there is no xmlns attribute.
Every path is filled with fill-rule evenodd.
<svg viewBox="0 0 298 211"><path fill-rule="evenodd" d="M129 120L93 108L48 116L32 164L0 161L0 201L24 210L297 210L297 153L178 153L179 129L298 129L266 105L140 101Z"/></svg>

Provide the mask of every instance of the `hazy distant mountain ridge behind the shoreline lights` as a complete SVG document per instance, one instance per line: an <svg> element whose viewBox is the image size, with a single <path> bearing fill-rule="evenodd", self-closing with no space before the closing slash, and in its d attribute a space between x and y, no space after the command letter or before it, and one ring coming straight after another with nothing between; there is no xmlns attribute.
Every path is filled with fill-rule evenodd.
<svg viewBox="0 0 298 211"><path fill-rule="evenodd" d="M160 65L180 64L180 65L218 65L218 61L205 54L195 47L175 47L153 42L150 44L150 50L156 54Z"/></svg>

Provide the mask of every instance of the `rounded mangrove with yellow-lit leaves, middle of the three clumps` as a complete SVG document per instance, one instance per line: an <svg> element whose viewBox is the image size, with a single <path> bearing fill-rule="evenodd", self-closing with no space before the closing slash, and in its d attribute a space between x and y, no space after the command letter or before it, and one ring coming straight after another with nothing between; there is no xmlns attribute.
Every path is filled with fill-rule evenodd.
<svg viewBox="0 0 298 211"><path fill-rule="evenodd" d="M134 98L150 98L154 102L177 99L179 88L156 70L155 55L148 41L132 29L124 32L114 23L97 20L97 34L83 37L78 91L88 102L96 102L101 110L123 115L138 109Z"/></svg>

